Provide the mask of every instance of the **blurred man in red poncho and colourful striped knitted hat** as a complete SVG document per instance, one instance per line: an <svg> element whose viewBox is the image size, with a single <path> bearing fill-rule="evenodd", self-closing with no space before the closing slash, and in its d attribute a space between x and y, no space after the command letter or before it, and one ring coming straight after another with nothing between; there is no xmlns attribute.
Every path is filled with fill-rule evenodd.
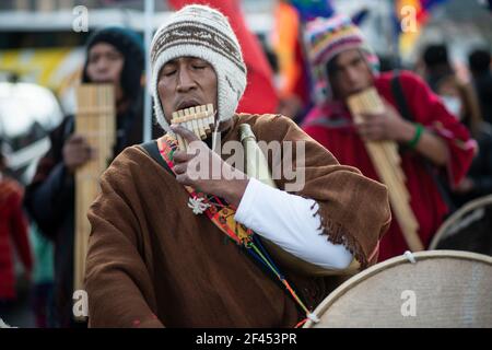
<svg viewBox="0 0 492 350"><path fill-rule="evenodd" d="M447 172L447 180L456 185L470 165L475 141L417 75L408 71L378 74L377 57L349 18L317 19L307 25L305 39L315 72L317 105L306 117L303 130L329 149L341 164L356 166L377 180L377 164L364 142L389 140L399 144L405 185L419 226L415 236L426 247L448 208L425 163L432 163L432 171ZM371 86L384 101L383 110L366 113L362 122L354 122L348 101ZM402 117L397 91L412 120ZM399 223L393 220L382 240L379 259L408 248Z"/></svg>

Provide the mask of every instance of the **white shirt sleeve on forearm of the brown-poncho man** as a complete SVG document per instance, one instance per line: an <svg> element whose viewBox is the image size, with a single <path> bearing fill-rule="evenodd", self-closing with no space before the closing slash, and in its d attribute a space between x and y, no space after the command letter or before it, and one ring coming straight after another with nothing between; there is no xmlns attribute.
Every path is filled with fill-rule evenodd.
<svg viewBox="0 0 492 350"><path fill-rule="evenodd" d="M345 269L352 254L321 235L320 218L313 217L313 199L250 178L234 219L307 262L326 269Z"/></svg>

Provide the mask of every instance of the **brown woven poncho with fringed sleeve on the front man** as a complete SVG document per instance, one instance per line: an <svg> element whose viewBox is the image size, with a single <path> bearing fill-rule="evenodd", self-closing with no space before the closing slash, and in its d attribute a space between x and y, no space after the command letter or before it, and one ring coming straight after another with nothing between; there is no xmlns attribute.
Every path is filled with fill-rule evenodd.
<svg viewBox="0 0 492 350"><path fill-rule="evenodd" d="M384 185L339 165L285 117L243 114L233 121L222 142L238 141L243 122L258 141L306 141L306 182L296 194L318 202L327 240L343 243L362 267L375 261L390 221ZM277 185L283 189L284 182ZM274 279L204 214L191 212L185 188L139 147L113 162L89 212L90 326L292 327L303 318ZM309 308L332 288L332 278L283 272Z"/></svg>

